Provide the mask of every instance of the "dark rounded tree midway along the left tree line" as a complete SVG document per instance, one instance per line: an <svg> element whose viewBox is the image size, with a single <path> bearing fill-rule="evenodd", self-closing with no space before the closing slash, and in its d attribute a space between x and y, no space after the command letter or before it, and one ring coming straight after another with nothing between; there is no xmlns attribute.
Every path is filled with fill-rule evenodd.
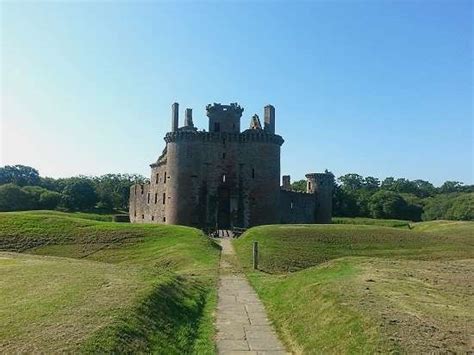
<svg viewBox="0 0 474 355"><path fill-rule="evenodd" d="M94 186L85 177L71 178L62 195L61 205L69 210L89 210L97 203Z"/></svg>

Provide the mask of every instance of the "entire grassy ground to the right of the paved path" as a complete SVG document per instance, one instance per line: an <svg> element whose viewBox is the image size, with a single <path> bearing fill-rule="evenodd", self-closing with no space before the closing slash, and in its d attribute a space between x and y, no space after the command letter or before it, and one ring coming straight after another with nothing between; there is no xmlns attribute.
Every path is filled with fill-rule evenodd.
<svg viewBox="0 0 474 355"><path fill-rule="evenodd" d="M474 332L473 236L472 222L277 225L252 228L234 245L296 353L465 352Z"/></svg>

